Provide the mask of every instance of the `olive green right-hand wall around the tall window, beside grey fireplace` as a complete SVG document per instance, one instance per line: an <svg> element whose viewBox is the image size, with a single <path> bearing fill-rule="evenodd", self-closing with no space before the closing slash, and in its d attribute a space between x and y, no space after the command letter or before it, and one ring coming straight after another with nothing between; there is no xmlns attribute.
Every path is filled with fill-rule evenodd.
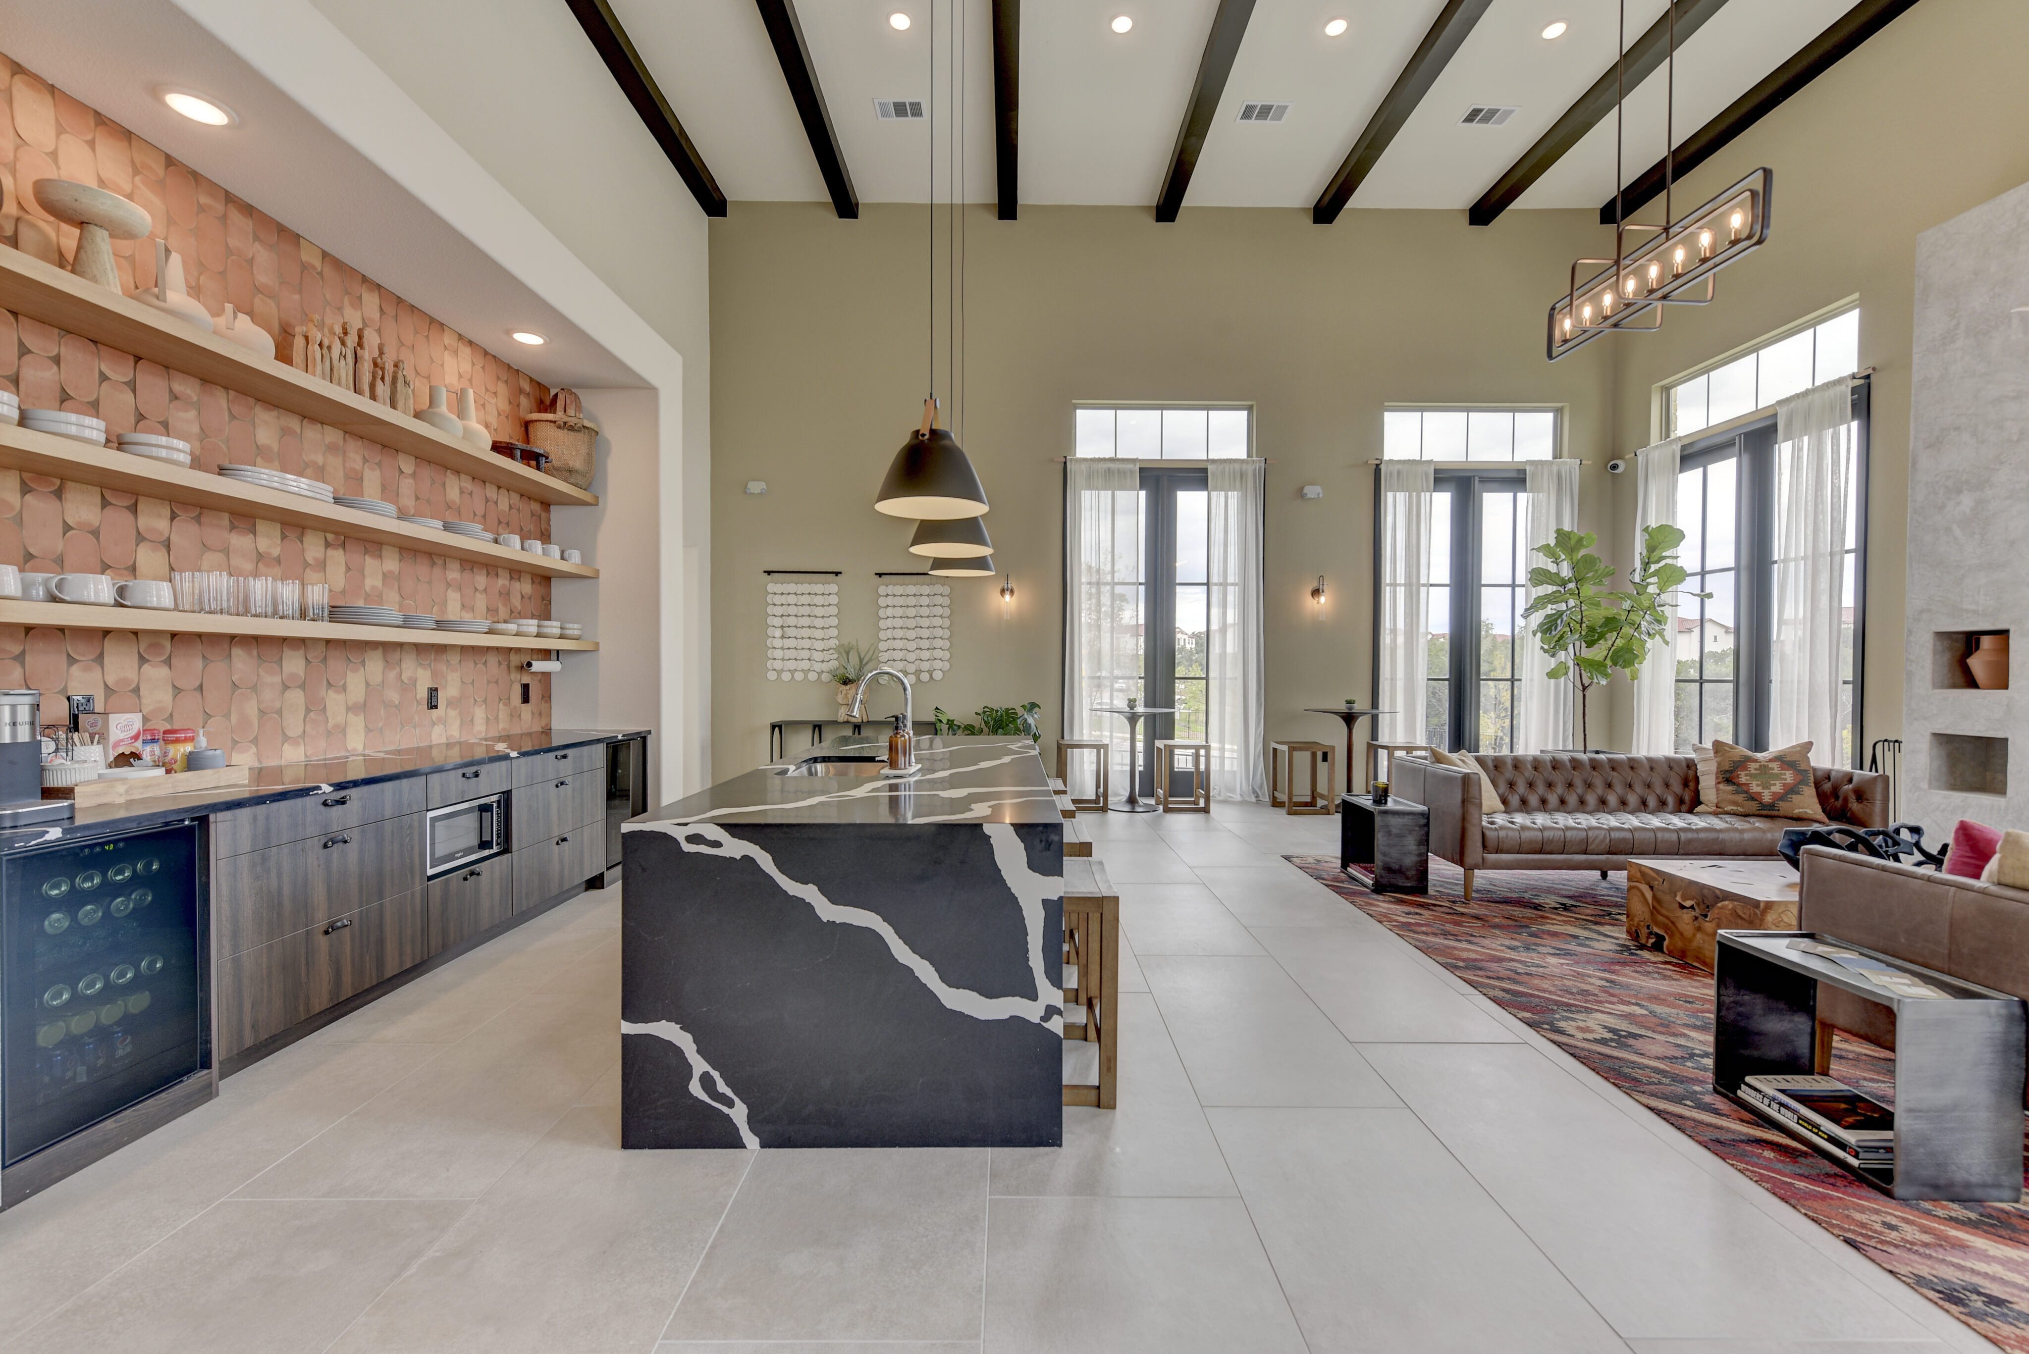
<svg viewBox="0 0 2029 1354"><path fill-rule="evenodd" d="M1875 367L1865 741L1901 735L1915 238L2029 181L2025 55L2029 4L1911 8L1690 175L1678 213L1773 168L1769 244L1721 274L1710 309L1617 339L1615 455L1629 455L1652 438L1658 384L1859 296L1861 365ZM2015 304L2029 304L2029 280ZM1613 485L1613 516L1631 536L1631 473ZM1615 704L1621 733L1625 694Z"/></svg>

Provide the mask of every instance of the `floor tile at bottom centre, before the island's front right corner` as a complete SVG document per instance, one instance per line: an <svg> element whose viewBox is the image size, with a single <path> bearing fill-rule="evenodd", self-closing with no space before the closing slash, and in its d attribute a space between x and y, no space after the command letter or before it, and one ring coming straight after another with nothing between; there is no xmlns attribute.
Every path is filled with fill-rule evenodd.
<svg viewBox="0 0 2029 1354"><path fill-rule="evenodd" d="M994 1200L984 1354L1303 1354L1240 1200Z"/></svg>

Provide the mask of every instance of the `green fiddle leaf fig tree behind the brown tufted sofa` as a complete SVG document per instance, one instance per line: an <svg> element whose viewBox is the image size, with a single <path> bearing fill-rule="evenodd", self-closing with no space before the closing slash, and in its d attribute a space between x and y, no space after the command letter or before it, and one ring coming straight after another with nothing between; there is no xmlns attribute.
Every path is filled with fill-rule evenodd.
<svg viewBox="0 0 2029 1354"><path fill-rule="evenodd" d="M1611 589L1613 568L1593 554L1599 536L1558 530L1556 540L1536 546L1548 566L1530 568L1536 599L1522 619L1540 617L1532 629L1536 644L1554 660L1546 674L1568 680L1579 692L1579 745L1591 747L1589 700L1595 686L1625 672L1633 682L1650 658L1650 648L1670 641L1672 597L1690 579L1676 562L1684 532L1652 526L1641 532L1641 558L1627 574L1625 589ZM1688 593L1710 597L1710 593Z"/></svg>

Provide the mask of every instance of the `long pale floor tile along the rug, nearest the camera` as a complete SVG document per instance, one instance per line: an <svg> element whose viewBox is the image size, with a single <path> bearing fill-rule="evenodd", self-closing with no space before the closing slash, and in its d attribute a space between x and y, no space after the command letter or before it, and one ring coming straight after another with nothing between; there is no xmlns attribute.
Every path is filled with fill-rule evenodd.
<svg viewBox="0 0 2029 1354"><path fill-rule="evenodd" d="M1370 1062L1623 1336L1911 1340L1923 1330L1522 1043ZM1579 1094L1572 1094L1579 1092ZM1694 1303L1648 1291L1656 1257Z"/></svg>

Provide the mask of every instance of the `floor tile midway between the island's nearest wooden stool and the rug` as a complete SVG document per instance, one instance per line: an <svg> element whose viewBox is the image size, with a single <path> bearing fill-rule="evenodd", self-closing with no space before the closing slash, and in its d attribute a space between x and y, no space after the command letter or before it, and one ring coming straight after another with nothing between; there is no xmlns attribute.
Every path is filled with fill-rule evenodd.
<svg viewBox="0 0 2029 1354"><path fill-rule="evenodd" d="M1142 956L1201 1104L1400 1104L1268 956Z"/></svg>

